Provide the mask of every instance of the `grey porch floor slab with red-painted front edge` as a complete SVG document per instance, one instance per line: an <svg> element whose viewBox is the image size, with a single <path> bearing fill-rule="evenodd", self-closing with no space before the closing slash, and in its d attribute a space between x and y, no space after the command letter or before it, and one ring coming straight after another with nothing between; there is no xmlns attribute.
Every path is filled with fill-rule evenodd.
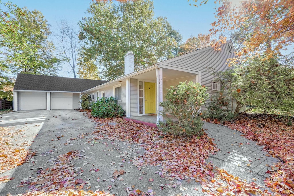
<svg viewBox="0 0 294 196"><path fill-rule="evenodd" d="M172 115L168 115L169 118L173 119L174 121L177 121L178 119ZM136 123L142 123L144 125L148 125L151 127L156 127L156 120L157 120L157 115L141 115L141 116L132 116L132 117L125 117L125 120L127 121L134 121ZM163 118L163 122L165 121L165 118Z"/></svg>

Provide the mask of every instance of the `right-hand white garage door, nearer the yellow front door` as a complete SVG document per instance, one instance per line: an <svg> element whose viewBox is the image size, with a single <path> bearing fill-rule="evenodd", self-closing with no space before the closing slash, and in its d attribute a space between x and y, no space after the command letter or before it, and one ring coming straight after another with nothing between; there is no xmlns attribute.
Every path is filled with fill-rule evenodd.
<svg viewBox="0 0 294 196"><path fill-rule="evenodd" d="M73 93L52 93L52 110L73 109Z"/></svg>

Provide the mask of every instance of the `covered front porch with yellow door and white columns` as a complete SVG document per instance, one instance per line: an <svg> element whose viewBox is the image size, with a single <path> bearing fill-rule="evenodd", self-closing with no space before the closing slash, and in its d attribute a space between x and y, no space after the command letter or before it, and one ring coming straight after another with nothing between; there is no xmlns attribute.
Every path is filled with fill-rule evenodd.
<svg viewBox="0 0 294 196"><path fill-rule="evenodd" d="M153 66L126 80L126 119L156 127L166 89L179 82L200 82L200 72L184 68Z"/></svg>

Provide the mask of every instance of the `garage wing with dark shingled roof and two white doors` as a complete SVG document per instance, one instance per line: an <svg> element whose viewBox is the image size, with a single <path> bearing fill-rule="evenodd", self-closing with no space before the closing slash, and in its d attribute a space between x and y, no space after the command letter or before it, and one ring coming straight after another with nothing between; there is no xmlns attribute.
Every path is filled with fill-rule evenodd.
<svg viewBox="0 0 294 196"><path fill-rule="evenodd" d="M13 108L54 110L80 108L80 94L107 81L19 73L13 89Z"/></svg>

